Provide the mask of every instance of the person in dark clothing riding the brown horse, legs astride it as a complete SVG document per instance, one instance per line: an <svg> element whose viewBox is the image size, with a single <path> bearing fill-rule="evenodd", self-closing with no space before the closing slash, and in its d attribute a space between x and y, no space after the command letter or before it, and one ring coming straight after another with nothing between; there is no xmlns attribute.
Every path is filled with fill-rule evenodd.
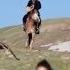
<svg viewBox="0 0 70 70"><path fill-rule="evenodd" d="M28 15L30 14L30 12L33 9L37 10L38 17L39 17L39 22L35 22L38 25L36 33L39 34L39 28L40 28L40 25L41 25L41 17L40 17L40 12L39 12L39 10L41 9L41 3L40 3L39 0L29 0L29 2L27 4L27 14L25 14L24 17L23 17L23 29L25 31L25 29L26 29L25 24L26 24Z"/></svg>

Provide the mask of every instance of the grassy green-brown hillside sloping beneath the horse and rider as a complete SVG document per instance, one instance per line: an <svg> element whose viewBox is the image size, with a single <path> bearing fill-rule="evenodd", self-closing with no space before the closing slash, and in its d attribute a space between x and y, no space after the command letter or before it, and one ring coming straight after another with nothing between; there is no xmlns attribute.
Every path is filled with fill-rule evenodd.
<svg viewBox="0 0 70 70"><path fill-rule="evenodd" d="M41 26L40 35L34 39L33 49L25 48L26 34L22 25L0 29L0 40L7 43L20 61L9 58L0 50L0 70L35 70L38 61L47 59L54 70L70 70L70 53L58 53L41 48L41 45L70 41L70 20L47 20Z"/></svg>

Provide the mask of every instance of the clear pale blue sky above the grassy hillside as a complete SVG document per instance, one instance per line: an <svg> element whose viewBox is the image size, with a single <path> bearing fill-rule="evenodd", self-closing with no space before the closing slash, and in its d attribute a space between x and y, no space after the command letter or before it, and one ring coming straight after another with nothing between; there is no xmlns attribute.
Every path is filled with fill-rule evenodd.
<svg viewBox="0 0 70 70"><path fill-rule="evenodd" d="M42 20L70 17L70 0L40 0ZM0 0L0 28L22 24L28 0Z"/></svg>

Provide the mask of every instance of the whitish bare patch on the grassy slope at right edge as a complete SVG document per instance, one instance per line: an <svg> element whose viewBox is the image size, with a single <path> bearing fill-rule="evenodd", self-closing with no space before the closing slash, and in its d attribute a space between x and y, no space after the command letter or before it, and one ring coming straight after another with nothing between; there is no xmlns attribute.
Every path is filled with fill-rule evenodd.
<svg viewBox="0 0 70 70"><path fill-rule="evenodd" d="M57 51L57 52L70 52L70 41L53 45L48 50Z"/></svg>

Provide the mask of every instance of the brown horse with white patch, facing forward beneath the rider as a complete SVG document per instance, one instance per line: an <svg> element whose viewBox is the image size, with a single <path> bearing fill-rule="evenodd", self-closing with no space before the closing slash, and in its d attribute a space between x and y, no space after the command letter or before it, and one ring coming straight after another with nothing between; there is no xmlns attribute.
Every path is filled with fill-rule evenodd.
<svg viewBox="0 0 70 70"><path fill-rule="evenodd" d="M29 47L30 49L32 48L32 43L33 43L33 38L35 36L35 31L37 28L37 24L35 21L38 22L38 13L36 10L32 10L27 18L26 22L26 34L27 34L27 42L26 46Z"/></svg>

